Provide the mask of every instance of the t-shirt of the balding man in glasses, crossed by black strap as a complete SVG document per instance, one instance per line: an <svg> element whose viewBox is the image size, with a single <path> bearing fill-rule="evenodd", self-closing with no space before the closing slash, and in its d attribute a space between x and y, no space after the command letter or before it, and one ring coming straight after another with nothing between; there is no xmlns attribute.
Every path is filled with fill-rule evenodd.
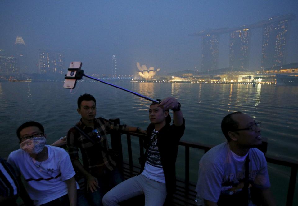
<svg viewBox="0 0 298 206"><path fill-rule="evenodd" d="M228 142L210 149L200 160L196 185L197 205L204 205L204 199L217 202L221 194L239 192L241 180L245 178L244 157L233 155ZM251 148L249 155L249 180L254 187L267 189L270 181L266 158L257 148ZM245 156L246 157L246 156ZM249 205L254 205L251 200Z"/></svg>

